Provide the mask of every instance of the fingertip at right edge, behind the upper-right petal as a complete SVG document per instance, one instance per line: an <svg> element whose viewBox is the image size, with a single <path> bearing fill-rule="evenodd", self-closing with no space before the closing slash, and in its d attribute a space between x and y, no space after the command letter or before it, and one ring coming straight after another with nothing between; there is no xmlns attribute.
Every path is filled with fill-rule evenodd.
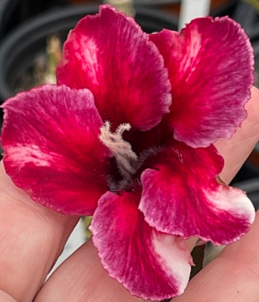
<svg viewBox="0 0 259 302"><path fill-rule="evenodd" d="M238 128L231 139L221 138L215 146L225 160L223 171L220 175L225 183L229 183L236 175L251 153L259 139L259 90L251 89L251 99L246 104L248 118L241 128Z"/></svg>

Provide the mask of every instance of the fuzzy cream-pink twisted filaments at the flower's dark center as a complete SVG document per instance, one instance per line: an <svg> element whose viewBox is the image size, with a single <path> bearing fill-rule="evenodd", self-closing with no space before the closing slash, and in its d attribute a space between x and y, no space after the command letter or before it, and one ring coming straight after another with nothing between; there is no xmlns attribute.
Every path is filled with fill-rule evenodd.
<svg viewBox="0 0 259 302"><path fill-rule="evenodd" d="M111 124L106 121L100 128L101 134L99 135L102 143L113 153L118 170L124 180L132 179L138 167L137 155L133 152L131 144L122 137L123 132L130 129L129 123L123 123L118 126L115 132L111 132Z"/></svg>

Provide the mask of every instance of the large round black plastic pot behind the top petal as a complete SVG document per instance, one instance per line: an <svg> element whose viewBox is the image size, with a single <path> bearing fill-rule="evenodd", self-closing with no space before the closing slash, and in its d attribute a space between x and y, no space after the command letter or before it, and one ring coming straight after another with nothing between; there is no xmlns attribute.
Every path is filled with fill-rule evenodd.
<svg viewBox="0 0 259 302"><path fill-rule="evenodd" d="M95 14L98 7L76 6L55 10L31 19L12 31L0 47L0 100L17 93L24 72L30 72L35 58L46 51L47 37L55 33L61 41L68 31L85 15ZM162 28L177 29L177 19L166 13L138 8L136 21L146 32Z"/></svg>

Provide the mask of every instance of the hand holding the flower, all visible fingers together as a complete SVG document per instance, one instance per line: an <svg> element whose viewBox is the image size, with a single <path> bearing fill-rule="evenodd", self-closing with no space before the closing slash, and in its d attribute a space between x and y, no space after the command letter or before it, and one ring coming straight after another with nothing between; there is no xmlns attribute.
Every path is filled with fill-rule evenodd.
<svg viewBox="0 0 259 302"><path fill-rule="evenodd" d="M228 183L259 138L259 91L252 89L248 118L231 140L216 143L225 159ZM65 216L18 189L0 167L0 301L137 302L101 266L92 242L82 245L43 285L79 217ZM189 283L174 302L257 301L259 296L259 215L252 230L228 246Z"/></svg>

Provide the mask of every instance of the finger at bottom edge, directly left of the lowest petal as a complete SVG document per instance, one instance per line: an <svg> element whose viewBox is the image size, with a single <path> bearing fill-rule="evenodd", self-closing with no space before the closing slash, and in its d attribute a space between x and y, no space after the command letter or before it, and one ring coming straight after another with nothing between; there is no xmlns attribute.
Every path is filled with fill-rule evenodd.
<svg viewBox="0 0 259 302"><path fill-rule="evenodd" d="M35 302L138 302L103 269L92 241L64 261L40 290Z"/></svg>

